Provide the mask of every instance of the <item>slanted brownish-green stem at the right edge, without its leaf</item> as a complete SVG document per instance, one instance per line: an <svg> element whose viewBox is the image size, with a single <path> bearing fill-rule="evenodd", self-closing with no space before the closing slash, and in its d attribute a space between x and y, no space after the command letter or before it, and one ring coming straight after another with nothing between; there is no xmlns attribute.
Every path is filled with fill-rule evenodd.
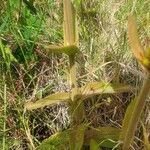
<svg viewBox="0 0 150 150"><path fill-rule="evenodd" d="M147 75L144 81L143 87L140 91L140 94L134 103L133 110L132 110L132 113L130 115L130 119L127 125L128 126L127 130L126 132L124 132L125 135L122 135L122 137L120 138L120 140L123 141L122 150L128 150L130 147L130 144L133 141L135 130L136 130L138 121L140 119L140 116L141 116L141 113L144 108L145 101L148 97L149 92L150 92L150 74ZM123 126L123 129L124 129L124 126Z"/></svg>

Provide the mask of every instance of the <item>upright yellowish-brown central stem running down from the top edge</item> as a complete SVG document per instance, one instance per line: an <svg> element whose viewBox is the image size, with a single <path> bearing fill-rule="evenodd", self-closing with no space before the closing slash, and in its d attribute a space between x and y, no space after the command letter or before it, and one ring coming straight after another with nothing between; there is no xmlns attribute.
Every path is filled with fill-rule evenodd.
<svg viewBox="0 0 150 150"><path fill-rule="evenodd" d="M77 34L77 22L76 22L76 11L73 7L71 0L64 0L64 46L75 45L78 46L78 34ZM70 63L70 115L71 124L73 126L80 124L83 118L83 102L76 97L78 94L77 79L76 79L76 60L75 53L69 55Z"/></svg>

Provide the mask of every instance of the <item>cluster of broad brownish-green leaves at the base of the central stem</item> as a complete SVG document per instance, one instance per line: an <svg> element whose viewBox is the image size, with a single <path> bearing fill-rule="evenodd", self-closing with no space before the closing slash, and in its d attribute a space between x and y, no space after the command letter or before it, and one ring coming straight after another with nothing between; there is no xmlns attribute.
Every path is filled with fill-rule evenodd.
<svg viewBox="0 0 150 150"><path fill-rule="evenodd" d="M52 135L44 140L38 150L81 150L83 145L89 145L90 150L100 147L113 148L119 138L120 130L112 127L100 127L87 130L88 126L81 124L74 128ZM74 138L72 138L74 137Z"/></svg>

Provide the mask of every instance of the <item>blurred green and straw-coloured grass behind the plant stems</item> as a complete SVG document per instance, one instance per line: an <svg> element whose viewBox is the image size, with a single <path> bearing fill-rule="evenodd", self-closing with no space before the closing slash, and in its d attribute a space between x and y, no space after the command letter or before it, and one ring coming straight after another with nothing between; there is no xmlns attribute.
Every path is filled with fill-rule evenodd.
<svg viewBox="0 0 150 150"><path fill-rule="evenodd" d="M31 5L33 3L33 5ZM148 0L82 0L78 14L80 49L78 84L88 81L134 85L133 94L94 97L87 102L87 119L93 126L121 126L124 111L144 78L130 51L127 16L134 12L142 44L150 37ZM67 106L24 110L27 99L68 91L68 58L45 54L44 46L63 43L61 0L1 0L0 2L0 148L24 150L37 147L51 134L69 126ZM91 107L92 106L92 107ZM102 107L101 107L102 106ZM142 122L149 132L150 105ZM93 117L94 116L94 117ZM139 127L135 149L141 148ZM139 144L140 143L140 144Z"/></svg>

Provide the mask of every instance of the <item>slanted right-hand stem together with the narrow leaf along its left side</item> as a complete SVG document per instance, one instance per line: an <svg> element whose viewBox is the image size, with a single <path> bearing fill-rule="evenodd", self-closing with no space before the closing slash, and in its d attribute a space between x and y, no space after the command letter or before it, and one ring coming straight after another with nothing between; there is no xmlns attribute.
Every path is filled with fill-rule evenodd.
<svg viewBox="0 0 150 150"><path fill-rule="evenodd" d="M128 150L134 139L138 121L143 111L145 101L150 93L150 75L148 74L139 96L128 106L122 125L120 141L123 142L122 150Z"/></svg>

